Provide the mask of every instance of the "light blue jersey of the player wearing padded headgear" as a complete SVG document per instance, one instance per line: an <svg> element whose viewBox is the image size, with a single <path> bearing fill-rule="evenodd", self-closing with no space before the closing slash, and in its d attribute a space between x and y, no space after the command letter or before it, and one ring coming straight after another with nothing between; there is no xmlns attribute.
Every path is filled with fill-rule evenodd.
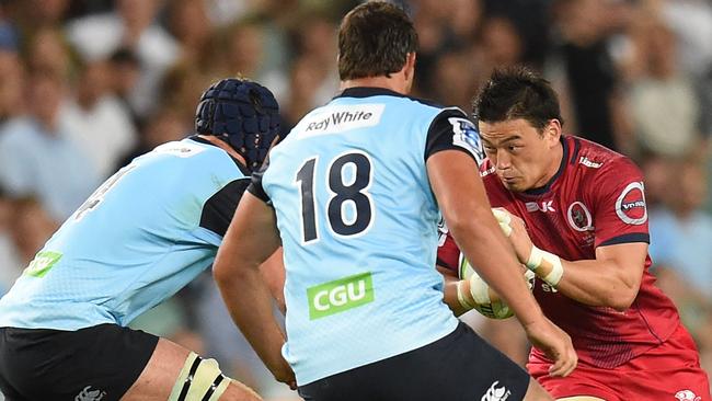
<svg viewBox="0 0 712 401"><path fill-rule="evenodd" d="M128 324L208 267L249 184L194 137L159 146L110 177L0 299L0 326Z"/></svg>

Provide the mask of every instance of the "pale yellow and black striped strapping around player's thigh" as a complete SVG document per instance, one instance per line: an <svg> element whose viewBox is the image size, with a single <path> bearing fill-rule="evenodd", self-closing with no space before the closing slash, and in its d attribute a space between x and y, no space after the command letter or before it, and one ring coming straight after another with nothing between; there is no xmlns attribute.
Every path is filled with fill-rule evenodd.
<svg viewBox="0 0 712 401"><path fill-rule="evenodd" d="M168 400L217 401L228 389L230 381L220 371L217 360L203 359L192 352L185 359L185 365L183 365Z"/></svg>

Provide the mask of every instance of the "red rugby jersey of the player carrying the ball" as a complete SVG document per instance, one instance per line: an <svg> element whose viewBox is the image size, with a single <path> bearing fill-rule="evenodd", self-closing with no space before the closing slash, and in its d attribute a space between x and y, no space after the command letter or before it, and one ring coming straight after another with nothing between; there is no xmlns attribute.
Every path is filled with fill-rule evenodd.
<svg viewBox="0 0 712 401"><path fill-rule="evenodd" d="M542 188L514 193L504 187L490 160L481 174L493 207L521 217L535 245L565 260L596 259L596 248L650 242L643 179L628 158L592 141L564 136L564 158ZM438 262L457 268L452 238L438 251ZM677 309L648 272L638 297L624 312L590 307L567 298L537 279L535 297L549 319L571 335L582 363L610 368L661 344L677 328ZM565 272L564 272L565 276ZM544 358L532 350L530 359Z"/></svg>

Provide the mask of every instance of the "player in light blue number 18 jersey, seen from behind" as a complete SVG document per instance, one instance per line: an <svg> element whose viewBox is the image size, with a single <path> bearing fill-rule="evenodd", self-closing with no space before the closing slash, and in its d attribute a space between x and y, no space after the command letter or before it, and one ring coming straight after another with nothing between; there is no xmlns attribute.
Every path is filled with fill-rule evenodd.
<svg viewBox="0 0 712 401"><path fill-rule="evenodd" d="M416 46L393 4L367 2L344 18L343 92L305 116L253 174L218 252L218 286L266 365L279 378L286 359L308 401L550 400L443 302L440 209L468 259L555 362L552 374L576 365L492 215L474 124L406 95ZM279 244L286 344L256 271Z"/></svg>

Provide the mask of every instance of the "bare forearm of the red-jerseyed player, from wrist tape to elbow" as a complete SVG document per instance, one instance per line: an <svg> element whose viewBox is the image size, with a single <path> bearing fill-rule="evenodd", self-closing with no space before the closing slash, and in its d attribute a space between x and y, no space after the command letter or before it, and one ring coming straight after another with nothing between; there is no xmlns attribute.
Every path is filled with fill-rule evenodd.
<svg viewBox="0 0 712 401"><path fill-rule="evenodd" d="M628 279L613 261L564 261L564 274L556 286L562 295L593 307L624 311L638 296L640 280Z"/></svg>

